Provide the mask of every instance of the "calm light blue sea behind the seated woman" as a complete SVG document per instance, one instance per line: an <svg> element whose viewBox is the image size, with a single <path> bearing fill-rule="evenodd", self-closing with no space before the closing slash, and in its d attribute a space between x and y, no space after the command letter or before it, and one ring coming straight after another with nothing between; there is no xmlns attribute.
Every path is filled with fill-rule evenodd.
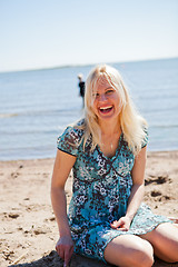
<svg viewBox="0 0 178 267"><path fill-rule="evenodd" d="M149 151L178 149L178 58L110 63L148 121ZM93 66L0 73L0 160L51 158L63 128L82 117L78 73Z"/></svg>

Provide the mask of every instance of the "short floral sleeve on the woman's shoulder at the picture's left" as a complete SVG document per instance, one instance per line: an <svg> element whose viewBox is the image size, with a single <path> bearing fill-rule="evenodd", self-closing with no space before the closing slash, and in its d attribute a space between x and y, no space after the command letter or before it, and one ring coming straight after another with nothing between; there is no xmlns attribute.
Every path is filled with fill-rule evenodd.
<svg viewBox="0 0 178 267"><path fill-rule="evenodd" d="M67 127L61 136L58 137L57 148L72 156L78 155L78 148L81 144L81 130L73 127Z"/></svg>

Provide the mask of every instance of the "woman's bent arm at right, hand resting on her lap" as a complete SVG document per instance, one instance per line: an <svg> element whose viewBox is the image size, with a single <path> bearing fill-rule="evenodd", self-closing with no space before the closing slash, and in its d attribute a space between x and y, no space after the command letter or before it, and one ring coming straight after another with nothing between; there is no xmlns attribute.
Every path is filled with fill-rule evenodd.
<svg viewBox="0 0 178 267"><path fill-rule="evenodd" d="M125 217L121 217L119 220L111 224L112 228L118 228L119 230L128 230L134 219L145 192L145 169L146 169L146 158L147 150L146 147L135 158L135 165L132 167L131 177L132 177L132 188L128 201L128 208Z"/></svg>

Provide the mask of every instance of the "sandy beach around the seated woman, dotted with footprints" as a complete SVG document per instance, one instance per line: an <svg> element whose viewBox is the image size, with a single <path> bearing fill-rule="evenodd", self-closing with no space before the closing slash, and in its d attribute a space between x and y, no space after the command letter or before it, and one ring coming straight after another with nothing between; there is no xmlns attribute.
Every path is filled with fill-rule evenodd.
<svg viewBox="0 0 178 267"><path fill-rule="evenodd" d="M0 161L0 266L62 266L55 251L58 228L50 202L55 159ZM66 185L68 204L72 175ZM145 201L178 218L178 151L148 152ZM71 267L106 266L73 255ZM109 266L109 265L108 265ZM156 259L154 266L178 266Z"/></svg>

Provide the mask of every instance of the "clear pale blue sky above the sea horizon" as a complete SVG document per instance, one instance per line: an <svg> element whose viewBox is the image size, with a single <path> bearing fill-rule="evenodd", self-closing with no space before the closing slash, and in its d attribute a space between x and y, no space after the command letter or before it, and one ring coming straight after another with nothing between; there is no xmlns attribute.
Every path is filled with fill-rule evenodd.
<svg viewBox="0 0 178 267"><path fill-rule="evenodd" d="M178 57L178 0L0 0L0 71Z"/></svg>

